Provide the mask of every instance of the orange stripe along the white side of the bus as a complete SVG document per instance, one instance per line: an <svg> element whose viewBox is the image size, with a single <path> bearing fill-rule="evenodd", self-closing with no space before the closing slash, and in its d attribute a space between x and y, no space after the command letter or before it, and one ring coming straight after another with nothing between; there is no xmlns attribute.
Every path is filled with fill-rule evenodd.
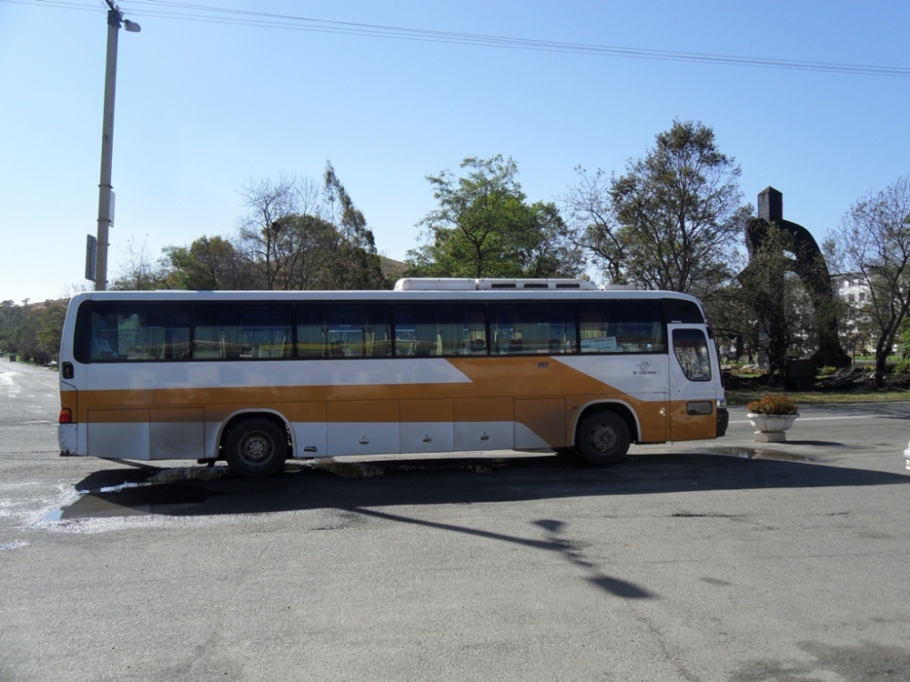
<svg viewBox="0 0 910 682"><path fill-rule="evenodd" d="M274 410L292 423L501 421L521 423L551 446L561 447L571 443L581 408L613 401L632 407L643 441L670 439L666 401L631 396L558 360L541 356L447 359L470 382L83 390L78 392L78 420L188 422L197 420L203 408L209 424L250 409ZM564 401L564 409L554 413L554 400ZM75 409L75 392L62 393L61 402ZM674 439L715 436L713 415L688 417L685 401L672 401L669 407Z"/></svg>

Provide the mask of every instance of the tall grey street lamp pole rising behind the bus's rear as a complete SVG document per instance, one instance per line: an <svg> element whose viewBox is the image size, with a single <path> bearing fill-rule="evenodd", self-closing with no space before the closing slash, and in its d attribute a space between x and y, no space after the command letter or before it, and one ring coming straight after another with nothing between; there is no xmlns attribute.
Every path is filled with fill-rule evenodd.
<svg viewBox="0 0 910 682"><path fill-rule="evenodd" d="M114 156L114 95L116 90L116 43L120 25L130 33L141 27L135 21L123 18L120 8L106 0L107 12L107 66L105 71L105 113L101 129L101 180L98 183L98 236L94 267L87 268L95 280L96 291L107 288L107 232L114 222L114 192L111 187L111 163ZM91 242L91 239L89 239ZM91 250L91 244L89 244Z"/></svg>

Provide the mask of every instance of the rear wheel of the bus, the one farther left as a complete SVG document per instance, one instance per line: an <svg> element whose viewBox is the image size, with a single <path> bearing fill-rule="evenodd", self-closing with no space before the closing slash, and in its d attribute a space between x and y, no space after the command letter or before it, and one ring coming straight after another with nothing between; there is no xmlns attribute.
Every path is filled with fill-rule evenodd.
<svg viewBox="0 0 910 682"><path fill-rule="evenodd" d="M245 419L227 434L225 459L238 476L265 478L284 468L288 434L271 419Z"/></svg>

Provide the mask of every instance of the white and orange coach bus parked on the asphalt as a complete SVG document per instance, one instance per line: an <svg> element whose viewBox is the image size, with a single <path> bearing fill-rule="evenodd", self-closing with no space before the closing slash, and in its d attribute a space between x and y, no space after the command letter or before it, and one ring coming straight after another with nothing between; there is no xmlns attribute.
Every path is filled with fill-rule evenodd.
<svg viewBox="0 0 910 682"><path fill-rule="evenodd" d="M600 466L728 420L696 298L578 280L87 292L59 366L61 454L251 477L288 457L490 449Z"/></svg>

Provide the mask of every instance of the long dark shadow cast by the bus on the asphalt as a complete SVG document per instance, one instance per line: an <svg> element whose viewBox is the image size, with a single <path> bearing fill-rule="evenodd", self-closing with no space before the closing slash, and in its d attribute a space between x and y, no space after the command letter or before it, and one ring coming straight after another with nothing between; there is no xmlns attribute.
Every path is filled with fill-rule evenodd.
<svg viewBox="0 0 910 682"><path fill-rule="evenodd" d="M813 464L786 453L775 456L773 451L711 449L713 452L632 456L611 468L594 468L557 456L518 453L498 457L294 461L280 476L260 480L233 476L226 466L106 469L76 484L82 495L58 510L56 520L910 483L910 476Z"/></svg>

